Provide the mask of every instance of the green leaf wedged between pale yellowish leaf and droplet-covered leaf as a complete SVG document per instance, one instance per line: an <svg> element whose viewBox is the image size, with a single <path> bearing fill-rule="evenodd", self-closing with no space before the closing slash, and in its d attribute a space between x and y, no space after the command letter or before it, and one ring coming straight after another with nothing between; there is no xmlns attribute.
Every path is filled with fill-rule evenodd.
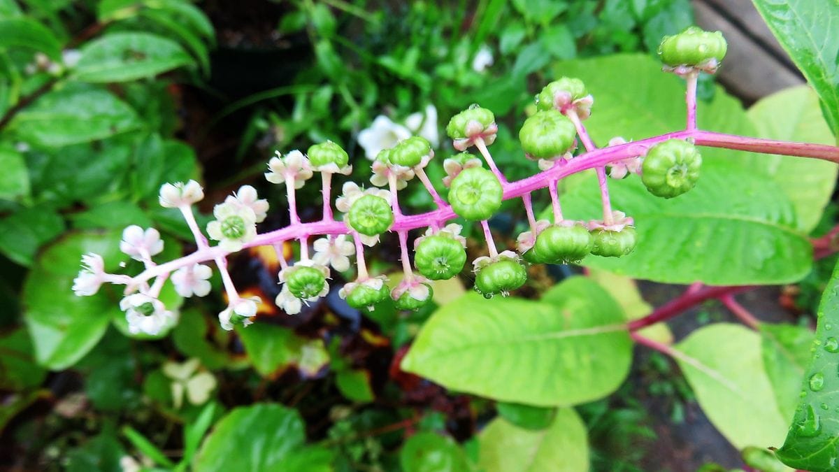
<svg viewBox="0 0 839 472"><path fill-rule="evenodd" d="M789 324L760 325L763 369L769 376L781 416L792 421L800 400L801 379L810 362L813 332Z"/></svg>

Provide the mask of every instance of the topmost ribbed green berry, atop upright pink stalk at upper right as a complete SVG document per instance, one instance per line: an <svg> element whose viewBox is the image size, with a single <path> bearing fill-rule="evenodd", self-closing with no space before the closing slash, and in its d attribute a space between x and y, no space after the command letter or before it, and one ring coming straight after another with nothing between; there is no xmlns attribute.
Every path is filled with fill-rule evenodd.
<svg viewBox="0 0 839 472"><path fill-rule="evenodd" d="M661 61L668 66L700 66L708 60L722 61L727 52L722 33L689 26L680 34L664 36L659 45Z"/></svg>

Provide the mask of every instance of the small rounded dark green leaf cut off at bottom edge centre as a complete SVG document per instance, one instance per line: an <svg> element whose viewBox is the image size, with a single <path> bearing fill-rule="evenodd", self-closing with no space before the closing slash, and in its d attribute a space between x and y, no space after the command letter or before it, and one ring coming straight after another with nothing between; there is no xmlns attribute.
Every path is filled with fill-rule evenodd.
<svg viewBox="0 0 839 472"><path fill-rule="evenodd" d="M448 436L416 433L399 451L404 472L461 472L471 470L463 449Z"/></svg>

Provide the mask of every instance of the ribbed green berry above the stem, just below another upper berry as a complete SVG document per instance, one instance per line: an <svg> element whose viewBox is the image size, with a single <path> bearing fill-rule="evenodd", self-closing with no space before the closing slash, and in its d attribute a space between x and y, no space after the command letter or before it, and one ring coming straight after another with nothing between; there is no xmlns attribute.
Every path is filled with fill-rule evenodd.
<svg viewBox="0 0 839 472"><path fill-rule="evenodd" d="M527 118L519 131L522 149L534 159L550 160L564 155L574 145L575 136L574 123L553 109Z"/></svg>

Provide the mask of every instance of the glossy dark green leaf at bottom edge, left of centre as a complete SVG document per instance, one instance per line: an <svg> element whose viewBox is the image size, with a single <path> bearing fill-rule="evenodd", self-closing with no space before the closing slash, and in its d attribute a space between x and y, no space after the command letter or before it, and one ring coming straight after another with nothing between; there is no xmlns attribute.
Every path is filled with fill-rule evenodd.
<svg viewBox="0 0 839 472"><path fill-rule="evenodd" d="M195 455L201 472L326 470L331 454L305 447L300 414L271 403L233 409L213 427Z"/></svg>

